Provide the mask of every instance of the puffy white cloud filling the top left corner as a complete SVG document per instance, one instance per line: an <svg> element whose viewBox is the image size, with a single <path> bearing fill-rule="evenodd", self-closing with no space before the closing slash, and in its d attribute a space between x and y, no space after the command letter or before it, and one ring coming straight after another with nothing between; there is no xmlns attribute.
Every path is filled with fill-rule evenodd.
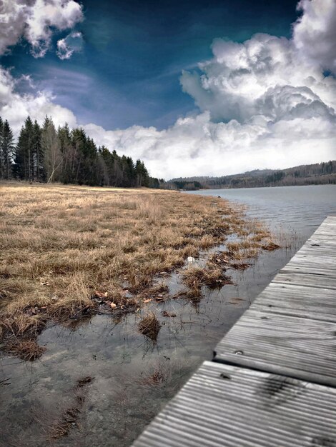
<svg viewBox="0 0 336 447"><path fill-rule="evenodd" d="M82 19L74 0L0 0L0 55L23 38L34 57L43 57L54 28L71 29Z"/></svg>

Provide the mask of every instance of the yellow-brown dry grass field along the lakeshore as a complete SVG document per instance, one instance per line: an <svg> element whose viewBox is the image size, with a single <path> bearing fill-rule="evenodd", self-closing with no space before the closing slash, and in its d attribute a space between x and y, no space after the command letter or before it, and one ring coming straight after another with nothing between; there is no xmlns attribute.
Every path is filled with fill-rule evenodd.
<svg viewBox="0 0 336 447"><path fill-rule="evenodd" d="M214 197L39 184L0 184L0 227L0 340L11 353L50 319L92 315L102 303L110 313L146 306L155 278L229 234L245 241L221 254L234 261L244 251L256 256L270 238L241 208ZM219 280L228 262L220 260L206 266ZM207 283L198 272L195 286L191 275L186 286Z"/></svg>

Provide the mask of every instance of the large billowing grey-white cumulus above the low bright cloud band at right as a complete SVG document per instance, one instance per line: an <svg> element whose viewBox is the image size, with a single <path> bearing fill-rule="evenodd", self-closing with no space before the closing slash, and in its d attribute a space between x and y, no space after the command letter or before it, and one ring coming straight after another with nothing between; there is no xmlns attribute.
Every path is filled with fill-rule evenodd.
<svg viewBox="0 0 336 447"><path fill-rule="evenodd" d="M257 34L242 44L217 39L212 51L202 74L184 72L181 84L214 121L334 115L335 79L302 60L292 41Z"/></svg>

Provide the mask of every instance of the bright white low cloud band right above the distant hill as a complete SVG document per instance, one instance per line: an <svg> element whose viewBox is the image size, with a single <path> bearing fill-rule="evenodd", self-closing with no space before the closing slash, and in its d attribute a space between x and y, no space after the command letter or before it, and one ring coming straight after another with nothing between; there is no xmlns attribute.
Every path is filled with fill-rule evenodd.
<svg viewBox="0 0 336 447"><path fill-rule="evenodd" d="M132 126L105 131L84 126L109 149L144 159L154 176L224 175L257 168L285 168L335 159L336 135L322 118L293 119L269 125L213 123L209 112L179 119L163 131ZM335 127L335 126L334 126Z"/></svg>

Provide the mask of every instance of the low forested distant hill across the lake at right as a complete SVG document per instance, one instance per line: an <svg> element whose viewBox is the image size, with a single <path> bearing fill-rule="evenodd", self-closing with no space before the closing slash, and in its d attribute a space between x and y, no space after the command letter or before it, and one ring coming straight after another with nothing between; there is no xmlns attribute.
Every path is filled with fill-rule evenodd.
<svg viewBox="0 0 336 447"><path fill-rule="evenodd" d="M165 187L193 190L322 184L336 184L336 160L288 169L255 169L222 177L181 177L167 181Z"/></svg>

